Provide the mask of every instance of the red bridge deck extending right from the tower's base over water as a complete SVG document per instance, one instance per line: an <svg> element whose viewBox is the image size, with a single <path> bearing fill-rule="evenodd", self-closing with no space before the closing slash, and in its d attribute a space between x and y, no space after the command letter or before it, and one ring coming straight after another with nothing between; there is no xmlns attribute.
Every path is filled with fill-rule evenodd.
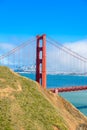
<svg viewBox="0 0 87 130"><path fill-rule="evenodd" d="M50 89L50 91L53 92L53 93L81 91L81 90L87 90L87 86L73 86L73 87L52 88L52 89Z"/></svg>

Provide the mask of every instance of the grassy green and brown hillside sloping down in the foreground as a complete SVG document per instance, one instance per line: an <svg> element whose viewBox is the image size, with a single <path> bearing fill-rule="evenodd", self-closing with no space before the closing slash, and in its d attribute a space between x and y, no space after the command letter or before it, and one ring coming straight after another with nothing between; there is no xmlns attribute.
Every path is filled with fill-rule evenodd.
<svg viewBox="0 0 87 130"><path fill-rule="evenodd" d="M0 67L0 130L86 130L86 124L62 97Z"/></svg>

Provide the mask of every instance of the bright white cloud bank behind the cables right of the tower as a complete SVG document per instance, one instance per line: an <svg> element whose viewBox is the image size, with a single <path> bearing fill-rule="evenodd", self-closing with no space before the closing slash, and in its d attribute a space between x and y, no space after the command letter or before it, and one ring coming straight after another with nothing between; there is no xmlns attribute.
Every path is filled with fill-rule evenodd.
<svg viewBox="0 0 87 130"><path fill-rule="evenodd" d="M63 44L68 49L78 53L87 58L87 40L77 41L73 43ZM52 45L51 45L52 46ZM66 52L56 48L49 47L47 55L47 69L48 71L58 72L87 72L87 63L77 60L77 58L69 55ZM71 52L72 53L72 52Z"/></svg>

